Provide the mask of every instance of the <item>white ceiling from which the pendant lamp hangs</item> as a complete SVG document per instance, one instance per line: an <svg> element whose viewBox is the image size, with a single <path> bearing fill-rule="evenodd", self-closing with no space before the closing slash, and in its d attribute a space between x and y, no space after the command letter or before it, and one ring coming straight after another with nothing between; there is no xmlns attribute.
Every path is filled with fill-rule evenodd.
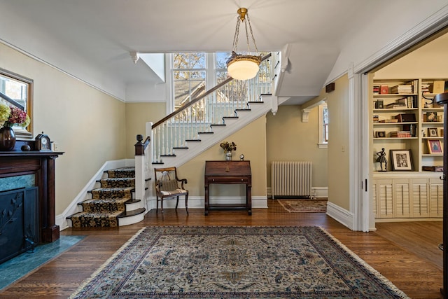
<svg viewBox="0 0 448 299"><path fill-rule="evenodd" d="M125 85L158 83L130 52L230 51L237 9L248 8L258 50L290 44L280 94L300 104L320 92L342 44L388 0L0 0L1 7ZM242 27L241 27L242 28ZM1 37L1 36L0 36ZM239 49L244 48L243 39ZM38 41L36 41L38 43Z"/></svg>

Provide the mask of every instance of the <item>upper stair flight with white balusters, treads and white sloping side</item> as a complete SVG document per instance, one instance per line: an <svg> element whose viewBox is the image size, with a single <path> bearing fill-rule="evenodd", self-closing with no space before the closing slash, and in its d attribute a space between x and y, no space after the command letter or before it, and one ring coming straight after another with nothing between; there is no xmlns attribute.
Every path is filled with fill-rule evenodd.
<svg viewBox="0 0 448 299"><path fill-rule="evenodd" d="M271 56L262 57L255 78L226 78L157 123L147 124L151 162L179 167L269 110L275 113Z"/></svg>

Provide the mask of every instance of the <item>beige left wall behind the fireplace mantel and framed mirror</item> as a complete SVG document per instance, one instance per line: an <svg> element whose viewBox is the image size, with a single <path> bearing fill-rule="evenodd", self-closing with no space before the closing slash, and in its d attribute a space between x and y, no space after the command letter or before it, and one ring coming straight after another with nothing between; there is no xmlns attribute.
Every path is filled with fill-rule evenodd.
<svg viewBox="0 0 448 299"><path fill-rule="evenodd" d="M0 67L34 80L34 137L45 132L56 160L56 214L107 160L125 158L125 104L0 43Z"/></svg>

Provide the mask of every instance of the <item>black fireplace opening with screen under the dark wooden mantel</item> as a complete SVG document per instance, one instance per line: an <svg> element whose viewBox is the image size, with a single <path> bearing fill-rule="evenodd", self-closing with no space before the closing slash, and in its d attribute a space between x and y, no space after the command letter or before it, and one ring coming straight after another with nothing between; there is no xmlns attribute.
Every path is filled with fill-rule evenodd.
<svg viewBox="0 0 448 299"><path fill-rule="evenodd" d="M0 263L38 244L38 187L0 192Z"/></svg>

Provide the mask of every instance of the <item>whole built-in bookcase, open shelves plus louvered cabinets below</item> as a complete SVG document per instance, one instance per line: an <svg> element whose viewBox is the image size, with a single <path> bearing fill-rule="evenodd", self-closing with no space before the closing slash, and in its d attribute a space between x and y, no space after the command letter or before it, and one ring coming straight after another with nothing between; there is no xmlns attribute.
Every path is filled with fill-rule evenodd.
<svg viewBox="0 0 448 299"><path fill-rule="evenodd" d="M442 218L444 108L433 98L448 92L445 82L448 79L373 80L370 151L377 221ZM386 171L377 161L383 149Z"/></svg>

